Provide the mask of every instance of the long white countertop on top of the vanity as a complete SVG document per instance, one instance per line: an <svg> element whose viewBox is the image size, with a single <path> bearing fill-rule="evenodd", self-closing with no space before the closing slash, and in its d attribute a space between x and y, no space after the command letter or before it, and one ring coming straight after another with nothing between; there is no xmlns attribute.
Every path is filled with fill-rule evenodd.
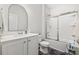
<svg viewBox="0 0 79 59"><path fill-rule="evenodd" d="M16 40L19 38L30 37L30 36L35 36L35 35L38 35L38 34L28 33L28 34L6 35L0 38L0 42L7 42L10 40Z"/></svg>

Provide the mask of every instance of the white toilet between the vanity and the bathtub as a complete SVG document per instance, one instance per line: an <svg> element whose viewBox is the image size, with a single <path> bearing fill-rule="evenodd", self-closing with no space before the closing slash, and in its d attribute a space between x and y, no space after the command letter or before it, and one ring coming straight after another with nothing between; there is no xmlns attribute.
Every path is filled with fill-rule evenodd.
<svg viewBox="0 0 79 59"><path fill-rule="evenodd" d="M43 54L48 54L48 48L49 48L49 42L47 41L41 41L40 42L40 52Z"/></svg>

